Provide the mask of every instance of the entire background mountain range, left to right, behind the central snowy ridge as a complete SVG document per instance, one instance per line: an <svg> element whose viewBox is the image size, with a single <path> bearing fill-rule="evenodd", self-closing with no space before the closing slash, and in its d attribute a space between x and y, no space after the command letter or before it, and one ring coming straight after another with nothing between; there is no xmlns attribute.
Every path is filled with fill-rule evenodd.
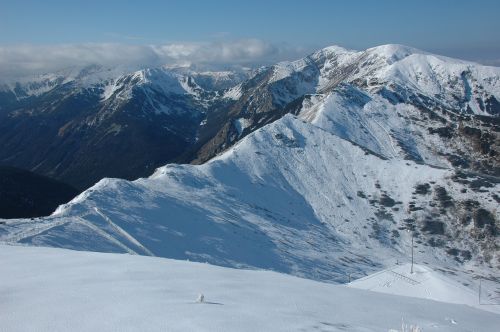
<svg viewBox="0 0 500 332"><path fill-rule="evenodd" d="M255 71L70 68L0 87L0 162L83 189L203 163L300 113L387 157L495 175L499 74L401 45L332 46Z"/></svg>

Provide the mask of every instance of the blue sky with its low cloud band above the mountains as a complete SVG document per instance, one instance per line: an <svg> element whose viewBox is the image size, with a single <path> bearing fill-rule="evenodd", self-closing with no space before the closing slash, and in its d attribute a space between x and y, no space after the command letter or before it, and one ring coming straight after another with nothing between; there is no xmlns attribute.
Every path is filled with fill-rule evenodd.
<svg viewBox="0 0 500 332"><path fill-rule="evenodd" d="M500 64L499 13L498 0L0 0L0 58L20 52L20 45L31 51L109 43L207 49L250 40L266 48L245 50L243 58L255 62L333 44L361 50L399 43ZM241 57L239 49L231 52Z"/></svg>

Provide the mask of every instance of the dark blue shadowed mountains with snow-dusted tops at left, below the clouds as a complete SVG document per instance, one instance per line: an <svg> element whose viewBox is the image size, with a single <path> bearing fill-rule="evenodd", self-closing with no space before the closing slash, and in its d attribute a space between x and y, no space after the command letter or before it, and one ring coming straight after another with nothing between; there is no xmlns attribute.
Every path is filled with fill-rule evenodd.
<svg viewBox="0 0 500 332"><path fill-rule="evenodd" d="M239 79L166 68L117 74L95 66L3 85L0 162L80 189L104 176L149 175L196 144L206 113L224 103L210 89Z"/></svg>

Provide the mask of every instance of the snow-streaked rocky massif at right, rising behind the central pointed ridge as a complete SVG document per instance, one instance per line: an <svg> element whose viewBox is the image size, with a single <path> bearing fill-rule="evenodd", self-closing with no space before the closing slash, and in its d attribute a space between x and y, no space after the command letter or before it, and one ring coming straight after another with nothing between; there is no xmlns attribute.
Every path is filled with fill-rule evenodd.
<svg viewBox="0 0 500 332"><path fill-rule="evenodd" d="M499 174L499 77L401 45L328 47L231 89L237 101L198 160L291 112L387 157Z"/></svg>

